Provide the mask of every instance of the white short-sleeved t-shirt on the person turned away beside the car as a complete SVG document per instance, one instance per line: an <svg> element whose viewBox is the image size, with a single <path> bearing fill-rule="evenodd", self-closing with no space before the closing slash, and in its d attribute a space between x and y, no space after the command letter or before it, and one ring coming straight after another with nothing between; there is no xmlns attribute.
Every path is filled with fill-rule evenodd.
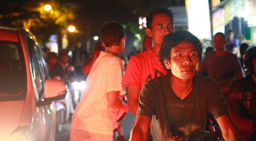
<svg viewBox="0 0 256 141"><path fill-rule="evenodd" d="M101 51L87 77L86 88L75 109L70 128L113 135L116 121L123 110L110 107L106 93L120 91L120 95L124 95L122 77L122 60L113 53Z"/></svg>

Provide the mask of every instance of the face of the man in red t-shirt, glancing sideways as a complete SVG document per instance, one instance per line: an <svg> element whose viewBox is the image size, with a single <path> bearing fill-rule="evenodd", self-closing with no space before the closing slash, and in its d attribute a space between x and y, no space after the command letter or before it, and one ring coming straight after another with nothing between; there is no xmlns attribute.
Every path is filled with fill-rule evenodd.
<svg viewBox="0 0 256 141"><path fill-rule="evenodd" d="M153 15L152 29L147 36L152 37L154 46L161 46L163 37L169 33L174 33L173 19L164 13Z"/></svg>

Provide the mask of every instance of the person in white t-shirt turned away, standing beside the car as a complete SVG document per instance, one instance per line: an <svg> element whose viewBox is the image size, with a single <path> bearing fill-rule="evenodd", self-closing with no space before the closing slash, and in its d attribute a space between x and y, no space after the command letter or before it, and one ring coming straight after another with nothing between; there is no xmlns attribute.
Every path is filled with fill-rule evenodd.
<svg viewBox="0 0 256 141"><path fill-rule="evenodd" d="M117 21L106 22L100 36L106 52L100 52L89 72L72 118L70 140L113 140L117 120L128 111L122 101L123 63L117 56L124 49L123 27Z"/></svg>

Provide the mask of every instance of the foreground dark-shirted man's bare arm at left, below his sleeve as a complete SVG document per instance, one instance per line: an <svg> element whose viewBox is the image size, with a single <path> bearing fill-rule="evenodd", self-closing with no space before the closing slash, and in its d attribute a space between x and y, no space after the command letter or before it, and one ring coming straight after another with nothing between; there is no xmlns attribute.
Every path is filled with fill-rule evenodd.
<svg viewBox="0 0 256 141"><path fill-rule="evenodd" d="M131 130L130 140L147 140L147 130L150 127L151 117L138 116L136 117L135 125Z"/></svg>

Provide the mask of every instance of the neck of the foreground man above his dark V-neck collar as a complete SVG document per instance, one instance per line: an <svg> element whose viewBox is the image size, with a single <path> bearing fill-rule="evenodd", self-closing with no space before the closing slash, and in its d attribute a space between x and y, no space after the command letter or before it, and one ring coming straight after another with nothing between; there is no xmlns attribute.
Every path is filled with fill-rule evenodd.
<svg viewBox="0 0 256 141"><path fill-rule="evenodd" d="M170 86L180 99L184 99L193 89L193 79L184 80L172 75L170 76Z"/></svg>

